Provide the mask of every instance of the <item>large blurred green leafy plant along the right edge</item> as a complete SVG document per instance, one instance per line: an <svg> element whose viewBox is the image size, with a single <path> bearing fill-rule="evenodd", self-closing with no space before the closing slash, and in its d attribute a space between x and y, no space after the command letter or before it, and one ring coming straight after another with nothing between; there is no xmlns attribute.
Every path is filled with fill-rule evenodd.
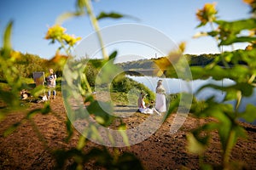
<svg viewBox="0 0 256 170"><path fill-rule="evenodd" d="M202 10L207 10L206 7L207 5ZM212 15L211 17L214 18ZM198 90L197 93L204 88L213 88L222 90L225 96L220 102L216 102L213 97L203 101L194 100L195 102L191 108L194 115L199 118L213 117L216 122L209 122L197 127L188 134L188 149L202 156L209 144L210 133L217 130L223 150L223 163L221 166L224 169L229 169L232 167L232 162L230 162L231 150L235 146L236 140L246 137L246 131L239 125L238 120L244 118L248 122L253 122L256 118L254 105L247 105L246 111L239 110L241 99L253 94L256 73L255 35L241 36L241 32L255 29L256 20L255 18L250 18L247 20L224 21L214 18L214 20L206 21L202 16L199 19L203 23L200 26L207 25L207 23L211 24L213 30L207 32L207 35L214 37L218 41L219 47L232 45L236 42L247 42L249 44L247 49L219 54L205 67L191 66L194 79L201 77L212 77L215 80L230 78L236 82L236 84L227 87L207 84ZM214 29L212 23L215 23L218 29ZM226 103L230 100L235 100L236 105ZM204 166L205 164L202 163L201 167ZM208 167L209 165L207 165Z"/></svg>

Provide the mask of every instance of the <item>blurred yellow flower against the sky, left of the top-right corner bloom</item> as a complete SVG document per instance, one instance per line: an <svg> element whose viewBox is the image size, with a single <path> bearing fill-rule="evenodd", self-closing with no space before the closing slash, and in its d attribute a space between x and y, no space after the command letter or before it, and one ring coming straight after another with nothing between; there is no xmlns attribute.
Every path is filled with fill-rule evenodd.
<svg viewBox="0 0 256 170"><path fill-rule="evenodd" d="M197 10L196 17L201 21L200 26L205 26L207 22L216 20L216 14L218 11L216 10L215 6L216 3L206 3L204 8Z"/></svg>

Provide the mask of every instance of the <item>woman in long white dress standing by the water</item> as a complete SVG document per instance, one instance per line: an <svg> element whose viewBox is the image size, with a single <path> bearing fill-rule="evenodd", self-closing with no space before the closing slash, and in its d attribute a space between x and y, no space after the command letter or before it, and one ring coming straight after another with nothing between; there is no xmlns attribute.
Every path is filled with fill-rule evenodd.
<svg viewBox="0 0 256 170"><path fill-rule="evenodd" d="M157 82L155 97L155 109L160 112L166 111L166 89L162 85L162 80Z"/></svg>

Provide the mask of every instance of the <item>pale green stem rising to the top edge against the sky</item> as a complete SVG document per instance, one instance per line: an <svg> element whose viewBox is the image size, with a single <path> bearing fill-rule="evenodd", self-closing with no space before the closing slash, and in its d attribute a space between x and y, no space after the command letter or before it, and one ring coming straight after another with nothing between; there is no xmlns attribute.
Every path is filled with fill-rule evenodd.
<svg viewBox="0 0 256 170"><path fill-rule="evenodd" d="M107 54L106 48L104 48L104 43L103 43L103 40L102 40L102 34L101 34L101 31L100 31L100 26L98 25L98 20L96 19L96 16L93 13L93 9L92 9L92 6L90 4L90 0L84 0L84 4L85 4L85 8L87 9L87 14L90 16L91 24L92 24L94 30L96 31L98 40L100 42L100 45L101 45L101 48L102 48L103 59L108 59L108 54Z"/></svg>

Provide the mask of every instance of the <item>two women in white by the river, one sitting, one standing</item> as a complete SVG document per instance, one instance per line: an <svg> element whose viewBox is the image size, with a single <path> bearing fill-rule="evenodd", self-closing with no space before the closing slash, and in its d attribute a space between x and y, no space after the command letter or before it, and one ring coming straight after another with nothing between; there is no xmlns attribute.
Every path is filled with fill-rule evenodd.
<svg viewBox="0 0 256 170"><path fill-rule="evenodd" d="M155 89L155 106L154 101L151 101L150 105L145 105L145 97L147 94L143 94L143 92L139 95L137 99L138 111L145 114L156 114L160 115L161 112L166 112L166 89L162 85L162 80L157 82L157 87Z"/></svg>

